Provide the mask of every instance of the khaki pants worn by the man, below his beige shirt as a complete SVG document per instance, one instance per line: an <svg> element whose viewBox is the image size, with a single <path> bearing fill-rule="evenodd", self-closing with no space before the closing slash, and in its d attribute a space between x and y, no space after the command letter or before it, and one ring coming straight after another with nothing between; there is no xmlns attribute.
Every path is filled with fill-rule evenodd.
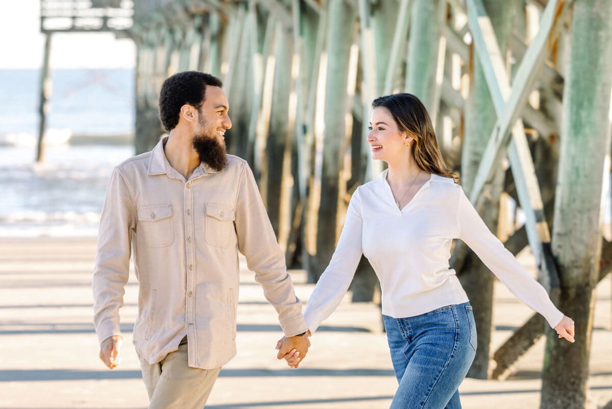
<svg viewBox="0 0 612 409"><path fill-rule="evenodd" d="M140 358L149 409L202 409L211 394L221 368L198 369L187 366L187 343L181 343L157 364Z"/></svg>

